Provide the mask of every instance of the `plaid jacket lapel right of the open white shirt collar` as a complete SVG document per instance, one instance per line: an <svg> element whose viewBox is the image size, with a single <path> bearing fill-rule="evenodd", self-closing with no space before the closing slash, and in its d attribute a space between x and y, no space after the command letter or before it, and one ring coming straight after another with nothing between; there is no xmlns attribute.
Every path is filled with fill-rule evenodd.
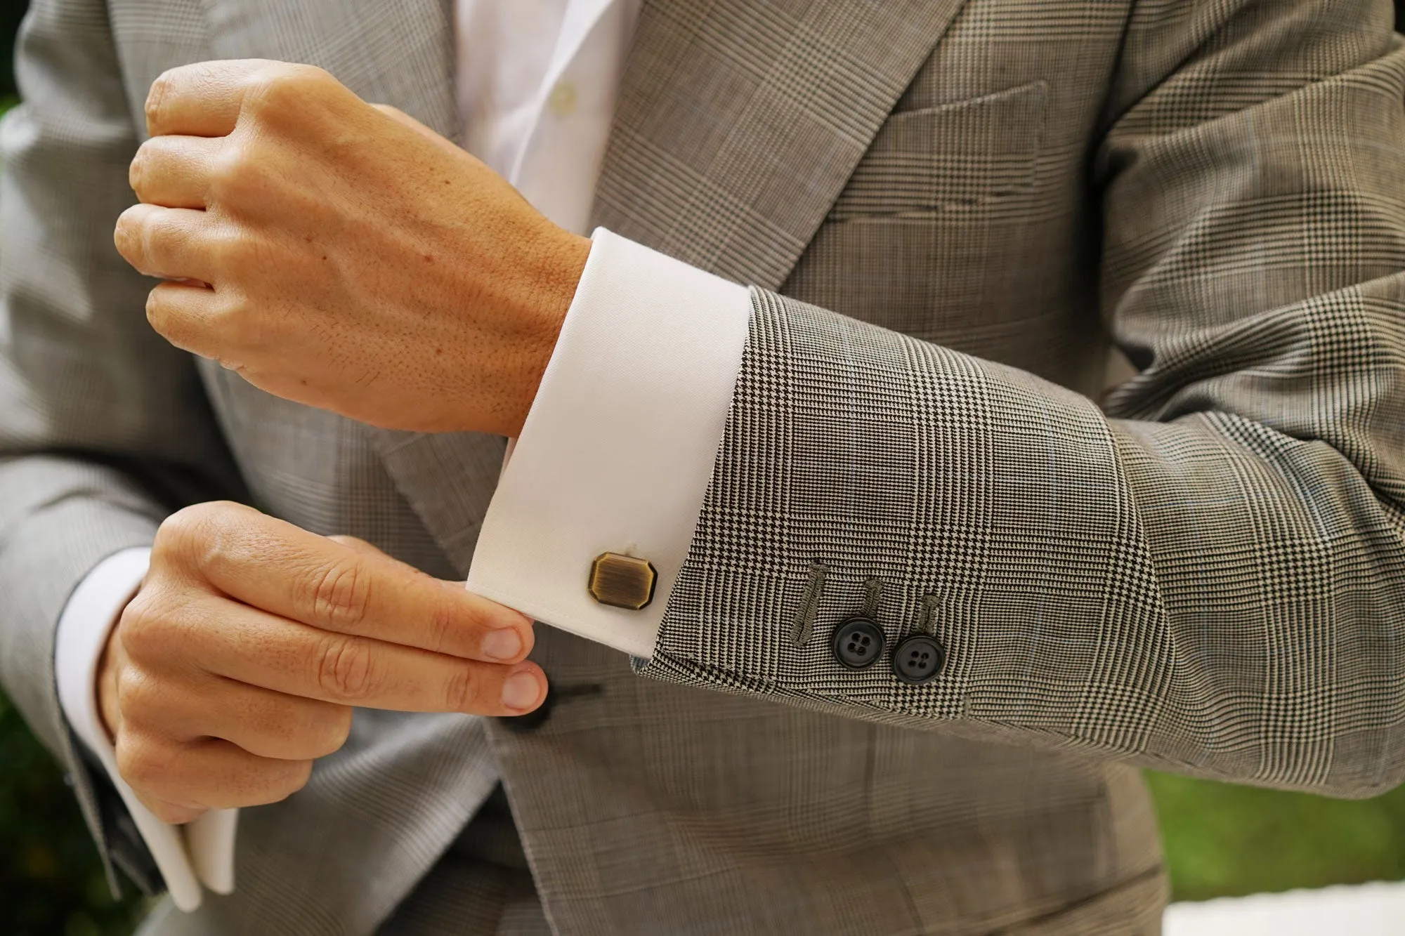
<svg viewBox="0 0 1405 936"><path fill-rule="evenodd" d="M597 223L778 288L962 0L645 0Z"/></svg>

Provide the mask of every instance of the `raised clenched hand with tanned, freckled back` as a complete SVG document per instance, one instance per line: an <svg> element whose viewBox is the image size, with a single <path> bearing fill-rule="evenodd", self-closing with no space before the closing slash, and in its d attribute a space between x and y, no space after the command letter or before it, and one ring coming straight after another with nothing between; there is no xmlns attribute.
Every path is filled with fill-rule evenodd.
<svg viewBox="0 0 1405 936"><path fill-rule="evenodd" d="M117 247L173 344L391 429L516 436L590 242L306 65L173 69Z"/></svg>

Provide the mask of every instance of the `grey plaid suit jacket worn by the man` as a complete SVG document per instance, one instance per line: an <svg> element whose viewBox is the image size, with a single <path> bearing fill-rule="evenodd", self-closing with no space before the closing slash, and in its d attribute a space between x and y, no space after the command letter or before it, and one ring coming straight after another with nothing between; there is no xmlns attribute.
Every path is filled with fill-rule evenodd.
<svg viewBox="0 0 1405 936"><path fill-rule="evenodd" d="M535 728L358 717L306 790L246 812L237 892L152 930L375 930L433 902L417 883L502 783L556 933L1152 933L1137 766L1399 783L1390 20L646 3L596 218L754 285L656 655L631 672L542 628L561 701ZM444 0L39 0L27 21L0 129L0 679L110 854L122 824L52 686L86 571L174 505L240 496L464 575L503 444L377 431L164 346L111 243L146 87L312 62L452 135L451 45ZM1135 372L1100 406L1110 344ZM936 682L833 662L873 579L889 644L948 648ZM464 905L419 932L471 929Z"/></svg>

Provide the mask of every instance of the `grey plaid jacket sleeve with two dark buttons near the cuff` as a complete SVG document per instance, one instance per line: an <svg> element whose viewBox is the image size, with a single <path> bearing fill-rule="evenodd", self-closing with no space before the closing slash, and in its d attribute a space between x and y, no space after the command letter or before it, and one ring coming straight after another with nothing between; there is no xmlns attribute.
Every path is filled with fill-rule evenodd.
<svg viewBox="0 0 1405 936"><path fill-rule="evenodd" d="M1405 779L1405 52L1384 1L1142 6L1092 148L1139 372L1100 409L754 291L642 672L1225 780ZM946 645L936 680L835 661L868 580L889 649Z"/></svg>

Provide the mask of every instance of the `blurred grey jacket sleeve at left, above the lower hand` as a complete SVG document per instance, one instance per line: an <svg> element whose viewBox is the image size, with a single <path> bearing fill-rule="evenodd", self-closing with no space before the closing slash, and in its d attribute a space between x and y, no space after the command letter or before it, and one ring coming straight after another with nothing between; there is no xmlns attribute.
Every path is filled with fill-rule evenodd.
<svg viewBox="0 0 1405 936"><path fill-rule="evenodd" d="M100 832L100 777L55 694L59 614L104 557L230 493L236 472L190 357L146 323L150 282L112 246L138 138L105 6L35 3L15 67L24 104L0 124L0 686Z"/></svg>

